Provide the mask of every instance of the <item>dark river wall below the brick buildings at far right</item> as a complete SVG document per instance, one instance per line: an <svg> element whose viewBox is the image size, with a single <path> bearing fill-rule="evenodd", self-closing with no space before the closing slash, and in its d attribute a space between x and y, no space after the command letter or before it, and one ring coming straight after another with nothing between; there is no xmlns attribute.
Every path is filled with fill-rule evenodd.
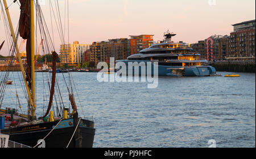
<svg viewBox="0 0 256 159"><path fill-rule="evenodd" d="M217 61L212 64L217 71L255 73L254 62Z"/></svg>

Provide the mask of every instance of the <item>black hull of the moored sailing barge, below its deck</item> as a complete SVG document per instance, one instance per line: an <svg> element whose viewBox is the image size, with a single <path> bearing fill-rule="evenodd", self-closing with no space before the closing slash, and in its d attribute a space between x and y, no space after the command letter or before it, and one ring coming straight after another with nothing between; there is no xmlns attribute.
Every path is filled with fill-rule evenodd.
<svg viewBox="0 0 256 159"><path fill-rule="evenodd" d="M69 119L70 120L70 119ZM67 119L67 122L70 122ZM83 119L82 119L83 120ZM63 124L63 128L59 127L53 129L53 131L48 135L48 133L52 130L53 127L58 123L49 122L49 123L41 123L35 125L29 125L26 127L18 127L18 128L10 128L2 130L1 133L5 135L10 135L9 140L15 141L20 144L24 144L30 147L35 147L38 144L38 141L44 139L46 148L66 148L73 133L75 132L76 125L69 125L67 127L67 122L65 120L61 121L59 125ZM88 125L88 127L82 127L79 125L77 127L75 136L71 140L69 144L69 148L92 148L95 129L93 128L93 122L89 120L84 120L84 123ZM66 125L64 125L66 124ZM31 130L30 130L31 129ZM39 145L38 147L40 147Z"/></svg>

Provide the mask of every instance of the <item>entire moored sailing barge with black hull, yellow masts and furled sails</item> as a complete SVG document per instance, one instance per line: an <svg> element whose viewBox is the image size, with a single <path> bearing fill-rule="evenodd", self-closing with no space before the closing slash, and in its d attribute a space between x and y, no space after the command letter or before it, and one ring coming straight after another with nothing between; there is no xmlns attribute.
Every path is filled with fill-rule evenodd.
<svg viewBox="0 0 256 159"><path fill-rule="evenodd" d="M14 1L16 2L16 1ZM19 114L14 108L1 109L0 116L4 123L1 125L1 133L9 135L9 140L30 147L46 147L46 148L80 148L93 147L95 134L94 122L79 118L75 97L72 91L69 91L69 101L72 110L69 108L61 108L63 114L58 117L53 117L52 101L55 93L55 78L56 78L56 58L57 53L52 51L52 77L51 87L49 87L50 96L46 114L37 118L35 115L35 48L34 48L34 2L35 0L19 0L20 2L20 19L19 19L19 35L23 39L27 39L27 69L24 69L17 41L11 23L11 18L6 0L3 0L6 16L10 26L10 33L13 37L13 43L16 51L16 56L19 59L20 69L26 94L28 97L27 115ZM1 3L2 5L2 3ZM38 2L36 1L36 5ZM40 9L40 6L36 7ZM18 34L16 35L18 36ZM5 82L1 83L1 86ZM0 103L1 104L1 103Z"/></svg>

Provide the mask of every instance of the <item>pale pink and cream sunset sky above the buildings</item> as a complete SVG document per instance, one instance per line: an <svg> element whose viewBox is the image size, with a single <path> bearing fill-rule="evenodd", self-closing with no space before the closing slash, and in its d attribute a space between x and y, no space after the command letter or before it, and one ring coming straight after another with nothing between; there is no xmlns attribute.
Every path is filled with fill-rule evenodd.
<svg viewBox="0 0 256 159"><path fill-rule="evenodd" d="M7 0L16 28L20 10L18 4L11 4L12 2L13 0ZM42 10L51 32L49 0L44 2L46 5L42 6ZM51 2L55 9L55 0ZM255 19L255 0L59 0L59 6L63 29L65 27L65 43L79 41L81 44L92 44L93 41L129 38L129 35L141 34L153 34L154 41L158 41L163 39L163 33L167 30L177 34L173 37L174 41L196 43L214 34L230 35L233 31L232 24ZM0 16L2 43L6 40L2 9ZM59 52L61 42L56 30L53 31L53 36L55 49ZM6 56L9 54L8 50L5 44L0 54Z"/></svg>

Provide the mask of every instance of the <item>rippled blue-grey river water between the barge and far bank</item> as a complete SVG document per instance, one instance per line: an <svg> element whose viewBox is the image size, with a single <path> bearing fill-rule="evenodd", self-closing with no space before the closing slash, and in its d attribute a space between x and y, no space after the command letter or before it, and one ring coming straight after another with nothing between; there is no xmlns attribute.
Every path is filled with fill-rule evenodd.
<svg viewBox="0 0 256 159"><path fill-rule="evenodd" d="M95 122L93 147L209 147L210 139L216 147L255 147L255 73L159 77L155 89L147 82L98 82L97 73L71 74L80 115ZM68 107L63 75L69 85L68 73L57 74ZM48 104L47 76L36 73L37 116ZM18 108L17 90L26 113L19 77L19 72L9 74L14 84L7 86L2 108Z"/></svg>

